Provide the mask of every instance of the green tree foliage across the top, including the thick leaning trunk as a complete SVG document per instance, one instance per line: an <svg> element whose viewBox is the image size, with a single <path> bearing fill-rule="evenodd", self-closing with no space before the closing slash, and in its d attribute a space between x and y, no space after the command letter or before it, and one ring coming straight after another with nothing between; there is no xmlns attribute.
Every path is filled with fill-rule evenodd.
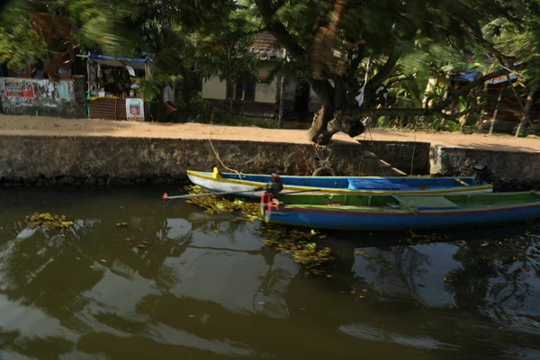
<svg viewBox="0 0 540 360"><path fill-rule="evenodd" d="M539 6L538 0L12 0L0 16L0 60L16 67L75 48L150 52L164 72L197 64L200 76L230 81L254 72L249 43L257 31L269 31L289 56L278 68L318 95L323 106L310 138L326 144L338 131L359 135L367 118L455 119L447 112L451 103L475 101L472 91L495 76L514 73L519 84L536 86ZM45 14L54 21L40 22ZM460 70L478 76L460 89L448 86L449 72ZM430 79L437 89L427 94ZM393 96L383 96L387 90Z"/></svg>

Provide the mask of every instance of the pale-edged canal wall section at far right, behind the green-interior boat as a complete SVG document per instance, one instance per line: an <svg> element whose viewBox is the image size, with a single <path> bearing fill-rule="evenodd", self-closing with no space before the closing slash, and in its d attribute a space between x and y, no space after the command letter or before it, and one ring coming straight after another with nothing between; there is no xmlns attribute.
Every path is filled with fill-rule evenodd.
<svg viewBox="0 0 540 360"><path fill-rule="evenodd" d="M540 189L540 153L497 151L474 148L447 148L432 145L431 174L473 175L474 163L482 162L493 172L494 191Z"/></svg>

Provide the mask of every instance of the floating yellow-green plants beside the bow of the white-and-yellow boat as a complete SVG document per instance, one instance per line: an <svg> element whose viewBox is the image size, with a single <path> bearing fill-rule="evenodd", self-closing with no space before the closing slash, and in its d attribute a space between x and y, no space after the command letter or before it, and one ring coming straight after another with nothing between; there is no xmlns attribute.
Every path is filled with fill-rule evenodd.
<svg viewBox="0 0 540 360"><path fill-rule="evenodd" d="M210 191L202 188L198 185L185 186L185 190L189 194L211 193ZM232 213L234 211L241 211L244 218L238 220L258 220L261 218L261 210L259 202L245 202L243 200L235 199L230 201L222 196L201 196L185 199L185 202L193 203L206 209L206 213Z"/></svg>

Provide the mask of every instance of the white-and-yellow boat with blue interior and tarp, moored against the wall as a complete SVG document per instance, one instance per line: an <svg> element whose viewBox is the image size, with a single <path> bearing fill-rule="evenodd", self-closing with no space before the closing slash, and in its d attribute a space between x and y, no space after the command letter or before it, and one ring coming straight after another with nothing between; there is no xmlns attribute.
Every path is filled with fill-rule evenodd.
<svg viewBox="0 0 540 360"><path fill-rule="evenodd" d="M238 192L238 196L260 198L271 175L213 173L188 170L193 184L218 193ZM491 193L493 185L475 177L379 177L379 176L288 176L280 175L284 184L282 193L322 194L377 194L377 193Z"/></svg>

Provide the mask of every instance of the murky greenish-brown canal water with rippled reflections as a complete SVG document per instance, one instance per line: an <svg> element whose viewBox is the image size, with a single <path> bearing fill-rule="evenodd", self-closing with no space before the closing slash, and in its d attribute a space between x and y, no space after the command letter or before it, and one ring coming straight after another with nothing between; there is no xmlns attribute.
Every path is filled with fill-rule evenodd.
<svg viewBox="0 0 540 360"><path fill-rule="evenodd" d="M164 190L0 190L0 359L540 358L535 223L328 233L332 278L309 277Z"/></svg>

